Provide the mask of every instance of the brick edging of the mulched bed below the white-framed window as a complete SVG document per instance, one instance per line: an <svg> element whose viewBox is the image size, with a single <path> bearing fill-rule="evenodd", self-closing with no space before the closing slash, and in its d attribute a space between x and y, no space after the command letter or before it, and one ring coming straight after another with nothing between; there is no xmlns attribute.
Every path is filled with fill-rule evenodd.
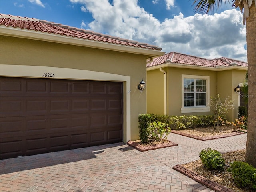
<svg viewBox="0 0 256 192"><path fill-rule="evenodd" d="M172 130L171 133L182 135L182 136L186 136L186 137L190 137L190 138L201 140L201 141L207 141L207 140L212 140L212 139L219 139L219 138L225 138L225 137L230 137L230 136L236 136L236 135L244 134L244 132L232 132L232 133L227 133L227 134L223 134L223 135L199 137L199 136L194 136L194 135L190 135L190 134L187 134L187 133L182 133L182 132L179 132L179 131L176 131L176 130Z"/></svg>

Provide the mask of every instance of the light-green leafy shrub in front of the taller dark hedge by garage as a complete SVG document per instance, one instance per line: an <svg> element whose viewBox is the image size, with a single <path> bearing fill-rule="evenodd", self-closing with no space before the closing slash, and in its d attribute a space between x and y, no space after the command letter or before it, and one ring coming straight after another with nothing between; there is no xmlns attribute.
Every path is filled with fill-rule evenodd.
<svg viewBox="0 0 256 192"><path fill-rule="evenodd" d="M149 133L149 140L152 141L159 141L161 139L165 139L168 134L170 134L171 129L168 127L168 124L161 123L161 122L153 122L150 123L148 128Z"/></svg>

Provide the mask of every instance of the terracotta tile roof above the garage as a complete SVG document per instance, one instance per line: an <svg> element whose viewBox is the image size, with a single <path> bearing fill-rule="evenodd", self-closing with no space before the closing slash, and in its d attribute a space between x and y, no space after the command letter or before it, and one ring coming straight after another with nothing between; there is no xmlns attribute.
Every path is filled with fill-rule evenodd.
<svg viewBox="0 0 256 192"><path fill-rule="evenodd" d="M144 48L150 50L162 50L162 48L146 43L140 43L128 39L122 39L110 35L104 35L101 33L78 29L67 25L62 25L54 22L48 22L45 20L38 20L35 18L27 18L20 16L12 16L0 13L0 26L21 28L27 30L34 30L38 32L47 32L49 34L56 34L61 36L69 36L73 38L81 38L85 40L93 40L98 42L106 42L112 44L118 44L123 46L132 46L136 48Z"/></svg>

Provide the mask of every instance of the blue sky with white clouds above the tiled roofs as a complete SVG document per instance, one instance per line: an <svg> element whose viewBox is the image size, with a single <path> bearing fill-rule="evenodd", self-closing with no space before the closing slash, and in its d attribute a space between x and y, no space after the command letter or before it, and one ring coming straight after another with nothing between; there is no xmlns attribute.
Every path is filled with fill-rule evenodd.
<svg viewBox="0 0 256 192"><path fill-rule="evenodd" d="M242 14L195 13L192 0L0 0L0 12L136 40L204 58L246 61Z"/></svg>

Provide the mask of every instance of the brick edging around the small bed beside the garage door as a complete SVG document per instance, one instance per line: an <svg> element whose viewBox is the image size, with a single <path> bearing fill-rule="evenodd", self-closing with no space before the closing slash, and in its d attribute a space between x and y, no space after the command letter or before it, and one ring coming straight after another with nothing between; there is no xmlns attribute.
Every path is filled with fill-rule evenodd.
<svg viewBox="0 0 256 192"><path fill-rule="evenodd" d="M136 148L139 151L148 151L148 150L154 150L154 149L160 149L160 148L165 148L165 147L172 147L172 146L177 146L178 144L172 142L172 141L168 141L166 143L161 143L161 144L157 144L157 145L147 145L147 146L142 146L140 144L138 144L137 142L133 142L133 141L128 141L127 144L129 146L132 146L134 148Z"/></svg>

